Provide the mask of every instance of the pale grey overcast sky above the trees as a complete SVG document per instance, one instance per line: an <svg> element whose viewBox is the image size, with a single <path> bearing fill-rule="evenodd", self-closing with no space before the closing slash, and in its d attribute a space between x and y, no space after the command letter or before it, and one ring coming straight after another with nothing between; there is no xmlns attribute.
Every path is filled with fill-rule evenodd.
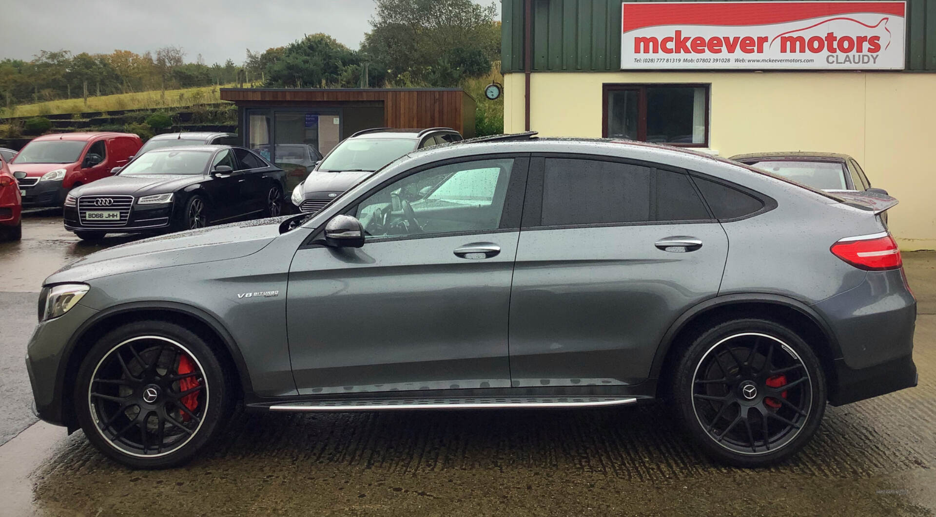
<svg viewBox="0 0 936 517"><path fill-rule="evenodd" d="M373 6L373 0L4 0L0 59L175 45L186 62L200 53L208 65L227 58L240 65L247 49L282 47L314 33L357 49Z"/></svg>

